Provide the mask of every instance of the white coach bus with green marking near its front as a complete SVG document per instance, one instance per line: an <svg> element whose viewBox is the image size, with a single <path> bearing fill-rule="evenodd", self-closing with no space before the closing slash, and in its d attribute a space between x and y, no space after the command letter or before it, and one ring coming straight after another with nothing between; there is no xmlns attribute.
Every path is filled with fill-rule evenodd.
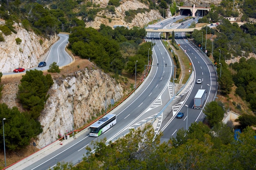
<svg viewBox="0 0 256 170"><path fill-rule="evenodd" d="M98 137L106 130L110 129L117 123L116 117L117 116L114 114L108 114L96 121L90 128L88 128L88 130L90 129L90 136Z"/></svg>

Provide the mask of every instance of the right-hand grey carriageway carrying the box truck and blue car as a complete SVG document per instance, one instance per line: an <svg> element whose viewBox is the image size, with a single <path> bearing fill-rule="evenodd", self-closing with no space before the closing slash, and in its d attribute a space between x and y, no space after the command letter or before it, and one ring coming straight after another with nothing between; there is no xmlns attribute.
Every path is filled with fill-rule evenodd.
<svg viewBox="0 0 256 170"><path fill-rule="evenodd" d="M186 28L194 22L195 20L188 20L183 22L184 25L180 25L177 28ZM202 121L204 119L204 114L201 109L193 108L193 99L198 89L205 89L207 91L207 100L204 105L212 101L215 97L217 91L217 76L216 69L207 59L207 56L202 53L194 44L191 44L184 37L183 33L178 33L178 37L175 39L177 44L180 44L180 48L185 52L191 61L193 72L193 79L185 93L175 97L169 108L169 111L163 113L161 119L161 125L159 127L159 132L163 133L161 141L168 141L170 137L176 137L177 130L184 128L188 130L191 123L195 121ZM192 69L191 69L192 70ZM196 84L197 79L202 79L202 84ZM210 95L209 95L210 94ZM184 117L182 119L175 118L178 112L183 112ZM173 117L174 116L174 117Z"/></svg>

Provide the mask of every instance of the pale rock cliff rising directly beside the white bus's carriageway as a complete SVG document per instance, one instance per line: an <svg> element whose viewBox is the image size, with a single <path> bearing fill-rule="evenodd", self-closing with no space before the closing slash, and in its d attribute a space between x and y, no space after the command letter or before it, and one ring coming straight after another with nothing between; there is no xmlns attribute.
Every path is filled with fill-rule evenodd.
<svg viewBox="0 0 256 170"><path fill-rule="evenodd" d="M72 131L73 104L74 127L78 128L105 111L106 96L109 106L110 99L118 101L124 95L121 85L99 69L85 69L56 79L49 94L45 109L39 117L43 133L38 136L38 148L56 141L58 135L63 136Z"/></svg>

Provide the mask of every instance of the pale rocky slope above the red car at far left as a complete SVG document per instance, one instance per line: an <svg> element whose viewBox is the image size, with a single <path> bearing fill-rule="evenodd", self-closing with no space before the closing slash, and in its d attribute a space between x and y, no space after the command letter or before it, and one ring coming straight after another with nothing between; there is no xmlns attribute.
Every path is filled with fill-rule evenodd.
<svg viewBox="0 0 256 170"><path fill-rule="evenodd" d="M4 20L0 20L3 25ZM14 68L31 68L38 64L41 55L49 49L49 47L58 40L58 36L54 36L49 40L29 32L18 25L14 24L17 33L4 36L4 42L0 42L0 72L7 73L13 71ZM20 38L22 42L16 43L16 38ZM42 40L43 44L40 44Z"/></svg>

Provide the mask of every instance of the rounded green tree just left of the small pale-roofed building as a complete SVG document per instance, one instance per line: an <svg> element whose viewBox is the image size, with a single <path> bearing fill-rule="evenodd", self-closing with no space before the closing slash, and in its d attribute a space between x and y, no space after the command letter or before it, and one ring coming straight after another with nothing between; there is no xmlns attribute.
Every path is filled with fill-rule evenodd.
<svg viewBox="0 0 256 170"><path fill-rule="evenodd" d="M206 115L206 119L210 127L213 127L215 124L220 123L225 113L223 108L219 106L218 103L215 101L207 103L204 107L203 112Z"/></svg>

